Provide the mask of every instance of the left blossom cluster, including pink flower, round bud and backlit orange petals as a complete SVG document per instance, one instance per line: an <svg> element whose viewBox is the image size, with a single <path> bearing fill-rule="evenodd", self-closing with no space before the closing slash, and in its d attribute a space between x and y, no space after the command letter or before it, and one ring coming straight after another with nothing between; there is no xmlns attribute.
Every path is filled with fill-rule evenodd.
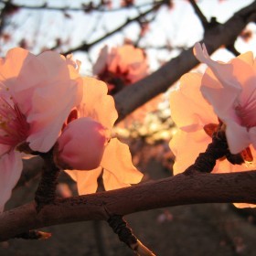
<svg viewBox="0 0 256 256"><path fill-rule="evenodd" d="M56 164L71 169L80 194L138 183L127 145L111 138L117 119L107 85L81 78L79 62L22 48L0 59L0 211L21 175L25 154L54 146ZM82 172L90 170L90 172Z"/></svg>

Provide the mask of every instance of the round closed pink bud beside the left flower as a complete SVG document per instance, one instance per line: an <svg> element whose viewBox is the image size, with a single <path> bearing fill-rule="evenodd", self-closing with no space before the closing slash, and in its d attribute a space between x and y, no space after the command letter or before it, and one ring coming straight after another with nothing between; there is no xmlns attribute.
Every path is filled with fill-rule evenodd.
<svg viewBox="0 0 256 256"><path fill-rule="evenodd" d="M70 122L59 136L55 162L63 169L91 170L101 163L106 128L89 117Z"/></svg>

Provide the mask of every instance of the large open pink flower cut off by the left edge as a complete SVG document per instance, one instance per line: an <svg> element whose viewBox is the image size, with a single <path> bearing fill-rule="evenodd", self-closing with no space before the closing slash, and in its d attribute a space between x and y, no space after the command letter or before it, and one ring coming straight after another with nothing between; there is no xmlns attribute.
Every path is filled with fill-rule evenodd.
<svg viewBox="0 0 256 256"><path fill-rule="evenodd" d="M0 59L0 210L21 174L20 151L28 145L47 152L55 144L81 100L81 82L71 60L55 52L14 48Z"/></svg>

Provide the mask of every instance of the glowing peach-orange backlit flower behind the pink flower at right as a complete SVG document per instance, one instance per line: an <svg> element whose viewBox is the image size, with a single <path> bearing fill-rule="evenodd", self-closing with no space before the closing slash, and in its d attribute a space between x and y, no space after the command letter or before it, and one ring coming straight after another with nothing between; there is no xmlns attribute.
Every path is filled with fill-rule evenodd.
<svg viewBox="0 0 256 256"><path fill-rule="evenodd" d="M200 92L201 82L201 74L187 73L180 79L179 89L170 95L171 116L178 128L170 142L176 155L175 175L193 165L197 156L211 143L211 137L205 131L206 125L219 123L212 106ZM246 165L242 168L247 169ZM242 168L223 160L217 162L213 172L232 172Z"/></svg>

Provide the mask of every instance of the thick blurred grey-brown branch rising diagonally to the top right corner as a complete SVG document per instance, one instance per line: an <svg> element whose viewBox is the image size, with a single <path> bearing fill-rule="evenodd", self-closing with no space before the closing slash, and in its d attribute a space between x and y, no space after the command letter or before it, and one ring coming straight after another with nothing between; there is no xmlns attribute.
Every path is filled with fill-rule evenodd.
<svg viewBox="0 0 256 256"><path fill-rule="evenodd" d="M225 24L208 29L203 42L211 54L221 46L230 46L246 25L256 18L256 1L241 9ZM183 74L198 64L192 48L184 50L178 57L171 59L161 69L156 70L143 80L127 86L115 96L119 121L136 108L166 91Z"/></svg>

